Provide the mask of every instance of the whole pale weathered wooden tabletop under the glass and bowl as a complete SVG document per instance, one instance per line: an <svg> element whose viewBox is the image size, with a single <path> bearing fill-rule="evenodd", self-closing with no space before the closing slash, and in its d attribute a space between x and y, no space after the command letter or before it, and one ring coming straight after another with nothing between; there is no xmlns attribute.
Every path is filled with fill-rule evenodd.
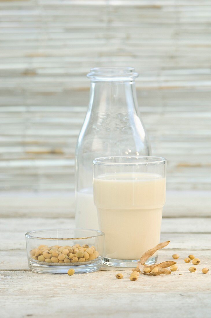
<svg viewBox="0 0 211 318"><path fill-rule="evenodd" d="M95 273L50 275L28 269L25 232L74 226L72 218L1 218L1 317L210 317L211 218L163 218L161 241L171 243L159 261L178 253L178 271L130 281L131 270L102 267ZM195 273L184 262L201 259ZM124 273L122 280L115 274Z"/></svg>

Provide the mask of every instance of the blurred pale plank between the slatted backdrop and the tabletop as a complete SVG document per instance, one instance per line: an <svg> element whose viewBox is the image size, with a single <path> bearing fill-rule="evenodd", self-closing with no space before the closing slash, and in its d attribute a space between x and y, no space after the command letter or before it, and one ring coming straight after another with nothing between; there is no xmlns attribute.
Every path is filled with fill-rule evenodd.
<svg viewBox="0 0 211 318"><path fill-rule="evenodd" d="M23 173L21 169L20 172ZM23 180L24 177L22 176L20 182L23 182ZM4 218L70 218L74 216L74 201L75 196L72 190L68 192L51 191L42 193L4 191L0 193L0 216ZM167 191L163 217L210 216L210 191Z"/></svg>

